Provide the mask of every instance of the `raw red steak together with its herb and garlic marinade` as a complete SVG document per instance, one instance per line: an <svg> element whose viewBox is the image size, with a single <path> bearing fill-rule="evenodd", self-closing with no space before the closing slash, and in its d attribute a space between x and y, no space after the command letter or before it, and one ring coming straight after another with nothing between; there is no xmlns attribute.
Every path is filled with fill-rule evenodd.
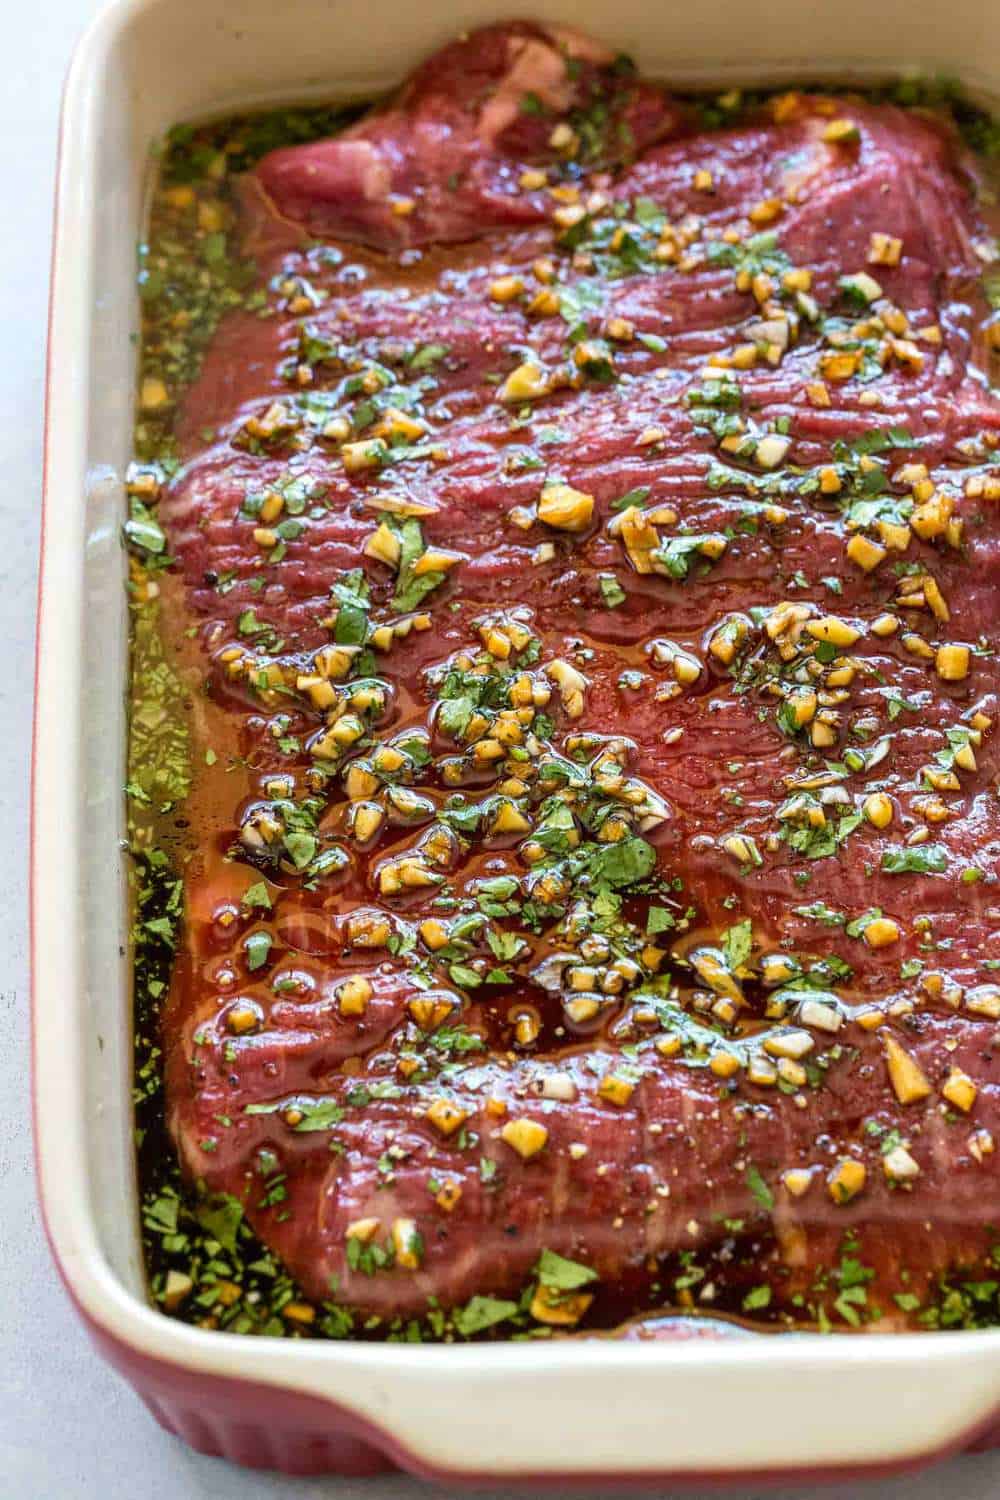
<svg viewBox="0 0 1000 1500"><path fill-rule="evenodd" d="M139 254L150 1290L1000 1320L1000 303L955 90L529 22L174 129Z"/></svg>

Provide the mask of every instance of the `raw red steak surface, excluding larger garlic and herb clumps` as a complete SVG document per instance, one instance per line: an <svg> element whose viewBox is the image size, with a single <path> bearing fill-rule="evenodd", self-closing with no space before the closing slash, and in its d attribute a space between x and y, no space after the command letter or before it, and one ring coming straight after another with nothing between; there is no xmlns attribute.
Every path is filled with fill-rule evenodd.
<svg viewBox="0 0 1000 1500"><path fill-rule="evenodd" d="M567 69L567 58L580 66ZM544 114L523 111L525 93L538 96ZM567 246L571 216L553 228L552 212L574 194L553 200L519 178L526 165L552 166L553 123L579 130L595 100L606 100L613 129L579 177L588 224ZM831 122L844 117L855 135L838 140ZM982 498L996 476L1000 406L976 368L970 298L982 225L952 142L898 110L786 99L753 126L655 144L679 120L670 100L616 72L600 50L541 27L492 28L445 48L391 105L343 136L261 164L258 180L276 210L313 236L331 236L336 254L279 231L268 210L253 206L247 246L259 249L271 234L259 273L262 285L279 288L276 315L226 320L181 414L186 464L162 506L178 560L165 582L166 618L178 642L199 622L198 646L186 646L201 652L192 657L201 670L210 658L198 735L240 759L226 765L220 753L192 800L201 846L186 873L184 948L168 1014L169 1122L187 1170L244 1203L312 1296L336 1286L337 1299L363 1312L417 1314L432 1299L451 1306L475 1293L516 1293L543 1248L613 1284L658 1257L709 1252L739 1238L733 1221L747 1234L771 1221L775 1244L757 1269L772 1286L772 1306L810 1306L852 1232L871 1269L870 1304L903 1320L934 1276L984 1264L1000 1224L991 1154L1000 1131L1000 990L991 981L1000 962L993 894L1000 756L990 734L1000 706L1000 543L997 506ZM562 178L553 172L549 182ZM591 192L601 198L594 202ZM642 250L609 268L612 250L597 242L613 206L637 238L655 214L676 226L676 256L658 262ZM484 237L498 230L507 232ZM660 232L652 243L664 243ZM754 242L757 258L747 260L747 240L760 232L772 238ZM895 264L871 261L873 237L903 242ZM472 243L391 266L343 244L381 250L457 240ZM744 262L733 249L741 243ZM552 274L535 273L540 260L553 262ZM741 264L750 267L744 276ZM771 492L771 471L727 453L699 418L697 392L708 362L768 342L766 304L796 268L810 280L790 285L808 285L816 315L787 292L781 306L798 308L787 350L735 364L744 420L790 440L780 466L787 483ZM841 284L859 273L877 279L873 300L898 332L883 320L873 336L889 351L877 380L859 364L846 380L825 381L823 360L837 344L823 320L841 318L849 328L877 315ZM490 291L501 279L526 291L501 300ZM531 298L553 285L555 312L540 315ZM303 296L312 300L307 312L297 302ZM501 400L517 366L573 368L573 351L588 340L610 358L612 380L567 380L534 404ZM426 440L399 450L393 466L352 471L342 448L322 438L322 423L357 411L352 382L373 362L391 372L400 400L418 404ZM817 382L825 398L816 396ZM291 412L285 435L279 428L276 438L247 441L247 420L273 416L274 404ZM208 450L205 428L217 434ZM867 458L873 434L882 446L870 444L876 456ZM885 441L894 444L888 452ZM876 520L852 532L837 495L862 486L855 500L895 495L909 500L910 513L927 486L900 471L916 464L963 522L951 532L957 544L933 528L913 531L904 550L889 546L867 572L846 543L864 532L882 546ZM882 489L864 478L873 470L885 476ZM825 472L834 476L828 489ZM813 488L804 484L810 476ZM526 530L511 524L511 508L529 510L546 478L592 496L583 531L546 530L531 518ZM246 496L289 480L309 498L283 555L268 564L259 513L247 510ZM714 566L697 558L687 578L633 572L607 528L616 502L639 486L646 492L639 506L673 510L672 537L724 538ZM378 861L409 848L412 830L390 826L375 852L349 855L339 884L312 890L294 870L225 858L241 812L270 777L288 776L295 795L306 794L309 753L280 740L304 747L324 722L294 694L262 706L234 681L225 651L262 640L264 656L307 670L330 639L331 585L358 566L372 616L390 618L391 573L363 552L378 519L370 501L385 494L418 502L427 544L459 549L462 561L426 602L432 628L414 630L379 662L393 696L375 740L424 724L433 696L424 670L475 651L484 614L523 606L540 660L577 652L588 678L579 720L567 720L553 699L555 742L565 747L570 732L627 735L633 774L669 804L649 837L660 873L682 884L678 900L688 909L688 936L675 934L667 958L688 1014L700 1014L699 1004L705 1010L685 966L694 934L712 942L738 921L751 924L751 970L760 956L792 952L853 970L838 990L840 1029L805 1023L810 1056L822 1062L808 1083L757 1083L745 1066L730 1077L705 1056L694 1065L685 1050L651 1048L627 1000L591 1036L559 1030L531 978L547 951L544 932L529 934L510 963L513 984L499 994L489 984L462 994L445 975L462 1026L483 1050L445 1072L439 1052L433 1066L408 1074L399 1066L408 1048L433 1054L433 1030L415 1026L411 1012L427 992L415 987L412 954L358 948L348 924L357 906L388 912L396 932L436 914L433 891L403 904L379 897ZM928 594L901 603L915 576L933 579L948 618ZM627 594L612 609L607 578ZM813 621L856 622L850 692L831 698L844 706L823 753L775 720L768 663L781 658L763 622L783 603L808 604ZM894 633L873 630L886 614L898 621ZM735 616L745 636L735 662L723 664L709 644ZM648 650L664 638L699 663L684 690L657 692L673 681ZM960 678L936 672L939 648L952 644L972 648ZM867 764L865 752L886 736L891 753ZM960 744L973 753L955 766ZM820 818L835 825L846 812L861 816L843 844L804 858L781 837L778 814L793 795L789 777L826 762L840 766L831 784L844 790ZM928 766L951 768L952 782L945 774L936 792ZM436 762L417 782L436 806L448 795ZM874 792L892 804L888 828L862 812ZM327 837L342 828L342 783L318 795ZM921 808L936 795L945 812L928 822ZM759 862L726 854L735 837L756 842ZM937 854L925 870L918 860L909 873L894 873L894 850L930 844ZM484 855L459 846L448 879L460 897L484 873L504 872L523 873L514 848ZM270 904L247 906L247 888L261 882ZM895 924L898 939L868 944L873 920ZM519 930L517 920L502 926ZM252 932L271 940L259 969L247 964ZM370 982L363 1014L342 1014L345 976ZM751 1038L768 1024L754 982L747 980L744 1016ZM246 1034L229 1020L237 999L258 1008ZM543 1014L534 1048L511 1040L507 1017L517 1002ZM876 1029L873 1010L882 1012ZM727 1035L718 1032L720 1046ZM894 1048L927 1086L913 1098L888 1066ZM601 1094L601 1080L622 1070L630 1086L621 1096ZM553 1074L559 1082L546 1094ZM958 1074L975 1083L969 1110L942 1094ZM463 1112L460 1131L445 1136L429 1119L439 1096ZM309 1128L318 1102L327 1124ZM546 1131L544 1148L528 1160L504 1136L523 1119ZM894 1176L894 1149L915 1174L897 1156ZM864 1186L840 1202L846 1160L864 1166ZM277 1204L268 1186L274 1164ZM444 1184L453 1188L442 1197ZM357 1238L358 1224L379 1246L390 1244L393 1224L414 1226L423 1250L414 1264L402 1254L372 1274L349 1260L348 1230Z"/></svg>

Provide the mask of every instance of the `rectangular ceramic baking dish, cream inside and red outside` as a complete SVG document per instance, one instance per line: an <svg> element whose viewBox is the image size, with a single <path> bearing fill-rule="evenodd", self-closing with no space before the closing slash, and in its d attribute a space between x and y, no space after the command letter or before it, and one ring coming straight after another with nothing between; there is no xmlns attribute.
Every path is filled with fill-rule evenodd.
<svg viewBox="0 0 1000 1500"><path fill-rule="evenodd" d="M297 1473L790 1479L1000 1442L1000 1330L411 1347L205 1332L145 1300L130 1118L121 476L135 242L171 123L387 87L498 0L120 0L66 86L49 326L33 782L34 1120L63 1280L105 1356L202 1452ZM1000 96L981 0L537 0L678 84L945 72ZM991 1434L993 1430L993 1434Z"/></svg>

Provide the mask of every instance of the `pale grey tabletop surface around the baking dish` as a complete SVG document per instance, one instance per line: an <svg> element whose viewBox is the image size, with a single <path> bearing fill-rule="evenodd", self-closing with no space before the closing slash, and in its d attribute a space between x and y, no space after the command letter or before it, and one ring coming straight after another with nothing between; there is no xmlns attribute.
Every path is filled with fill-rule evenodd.
<svg viewBox="0 0 1000 1500"><path fill-rule="evenodd" d="M0 854L0 1500L420 1500L435 1491L406 1479L292 1480L190 1454L91 1353L42 1240L30 1158L25 854L46 248L61 78L97 9L99 0L0 0L7 54L0 90L0 830L7 840ZM531 4L498 4L507 9ZM804 1500L807 1491L772 1494ZM987 1500L1000 1494L1000 1452L960 1458L919 1479L820 1494Z"/></svg>

